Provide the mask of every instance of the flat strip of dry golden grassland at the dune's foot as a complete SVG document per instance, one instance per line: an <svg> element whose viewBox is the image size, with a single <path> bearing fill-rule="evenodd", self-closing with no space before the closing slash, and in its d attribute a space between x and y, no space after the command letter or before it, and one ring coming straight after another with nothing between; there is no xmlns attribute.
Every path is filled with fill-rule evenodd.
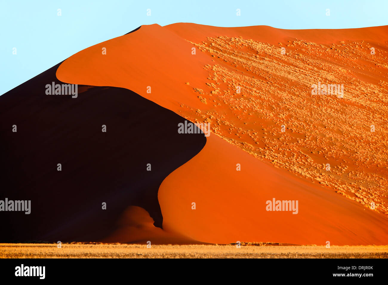
<svg viewBox="0 0 388 285"><path fill-rule="evenodd" d="M388 258L388 246L0 244L0 258Z"/></svg>

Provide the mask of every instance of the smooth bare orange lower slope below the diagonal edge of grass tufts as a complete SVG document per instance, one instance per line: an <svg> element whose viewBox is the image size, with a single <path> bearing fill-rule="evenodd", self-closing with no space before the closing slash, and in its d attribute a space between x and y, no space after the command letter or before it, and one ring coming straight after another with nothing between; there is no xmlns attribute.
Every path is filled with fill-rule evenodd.
<svg viewBox="0 0 388 285"><path fill-rule="evenodd" d="M163 228L204 242L387 242L385 216L259 161L217 136L210 136L198 155L163 181L158 197ZM298 214L266 211L265 202L274 197L298 200Z"/></svg>

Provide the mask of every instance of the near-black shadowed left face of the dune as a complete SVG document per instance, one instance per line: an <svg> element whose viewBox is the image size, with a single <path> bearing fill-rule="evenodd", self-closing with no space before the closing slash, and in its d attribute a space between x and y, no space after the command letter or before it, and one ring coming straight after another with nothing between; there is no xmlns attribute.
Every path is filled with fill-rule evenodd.
<svg viewBox="0 0 388 285"><path fill-rule="evenodd" d="M159 185L206 138L178 134L184 118L128 89L46 95L58 66L0 96L0 200L31 200L30 215L0 211L0 242L100 240L131 205L162 227Z"/></svg>

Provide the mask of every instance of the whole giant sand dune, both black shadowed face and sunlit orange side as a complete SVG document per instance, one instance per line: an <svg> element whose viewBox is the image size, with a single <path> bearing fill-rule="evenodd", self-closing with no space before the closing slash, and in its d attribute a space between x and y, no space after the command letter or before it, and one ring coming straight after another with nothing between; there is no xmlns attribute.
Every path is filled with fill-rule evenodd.
<svg viewBox="0 0 388 285"><path fill-rule="evenodd" d="M76 53L0 96L0 199L32 202L0 241L388 244L387 36L154 24Z"/></svg>

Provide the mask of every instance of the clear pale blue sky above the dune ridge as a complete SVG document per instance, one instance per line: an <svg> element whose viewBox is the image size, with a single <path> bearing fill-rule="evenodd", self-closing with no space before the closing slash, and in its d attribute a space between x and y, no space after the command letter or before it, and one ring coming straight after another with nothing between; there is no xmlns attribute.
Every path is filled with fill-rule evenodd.
<svg viewBox="0 0 388 285"><path fill-rule="evenodd" d="M343 29L387 25L387 12L388 0L0 0L0 94L88 46L145 24Z"/></svg>

